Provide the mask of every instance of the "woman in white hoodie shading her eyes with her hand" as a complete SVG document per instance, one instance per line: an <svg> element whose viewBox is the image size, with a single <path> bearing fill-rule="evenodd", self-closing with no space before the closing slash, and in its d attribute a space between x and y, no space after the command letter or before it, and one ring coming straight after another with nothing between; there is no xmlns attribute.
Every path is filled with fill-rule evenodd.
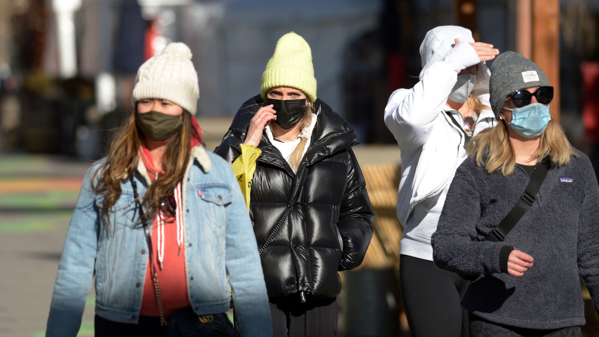
<svg viewBox="0 0 599 337"><path fill-rule="evenodd" d="M420 45L420 82L394 91L385 108L401 148L400 282L413 337L467 335L460 305L467 282L435 267L431 236L470 137L495 125L485 61L498 54L491 44L475 43L468 29L431 29Z"/></svg>

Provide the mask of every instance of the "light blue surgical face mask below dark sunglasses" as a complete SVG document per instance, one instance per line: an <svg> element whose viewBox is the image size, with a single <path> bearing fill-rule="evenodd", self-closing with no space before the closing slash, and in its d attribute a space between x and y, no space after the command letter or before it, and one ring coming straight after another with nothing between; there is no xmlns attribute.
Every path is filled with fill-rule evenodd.
<svg viewBox="0 0 599 337"><path fill-rule="evenodd" d="M541 136L551 120L549 104L533 103L521 108L509 109L504 107L504 109L512 111L510 127L520 136L526 138Z"/></svg>

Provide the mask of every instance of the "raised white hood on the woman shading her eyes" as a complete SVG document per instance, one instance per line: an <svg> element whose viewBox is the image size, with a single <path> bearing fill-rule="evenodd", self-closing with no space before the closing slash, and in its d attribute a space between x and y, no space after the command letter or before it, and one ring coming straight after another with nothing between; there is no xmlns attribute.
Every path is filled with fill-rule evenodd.
<svg viewBox="0 0 599 337"><path fill-rule="evenodd" d="M451 52L457 38L461 43L473 43L474 38L470 29L460 26L438 26L428 31L420 44L420 59L422 59L422 71L419 79L422 80L424 71L435 62L443 61L445 56ZM473 94L481 103L491 106L489 102L489 78L491 71L485 62L480 62L476 73L476 85Z"/></svg>

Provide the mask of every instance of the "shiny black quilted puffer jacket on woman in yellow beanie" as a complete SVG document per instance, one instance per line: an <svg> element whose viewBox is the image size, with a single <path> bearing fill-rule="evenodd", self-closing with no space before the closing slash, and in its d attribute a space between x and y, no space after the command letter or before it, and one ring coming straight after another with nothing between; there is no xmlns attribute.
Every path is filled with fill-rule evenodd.
<svg viewBox="0 0 599 337"><path fill-rule="evenodd" d="M229 162L241 154L240 143L263 100L244 103L214 151ZM269 296L299 291L335 297L341 291L337 271L359 266L373 234L373 209L364 176L351 146L356 133L320 100L314 102L316 127L295 174L266 133L260 145L250 195L250 216L262 248L286 206L291 212L262 254Z"/></svg>

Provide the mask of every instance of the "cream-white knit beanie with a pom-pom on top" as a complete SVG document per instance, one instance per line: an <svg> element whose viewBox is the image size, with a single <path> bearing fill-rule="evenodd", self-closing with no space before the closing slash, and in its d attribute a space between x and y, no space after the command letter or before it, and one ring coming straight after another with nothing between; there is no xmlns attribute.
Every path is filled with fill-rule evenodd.
<svg viewBox="0 0 599 337"><path fill-rule="evenodd" d="M199 99L198 73L191 62L186 44L169 44L160 55L153 56L137 71L131 101L133 106L146 98L161 98L179 104L192 116Z"/></svg>

